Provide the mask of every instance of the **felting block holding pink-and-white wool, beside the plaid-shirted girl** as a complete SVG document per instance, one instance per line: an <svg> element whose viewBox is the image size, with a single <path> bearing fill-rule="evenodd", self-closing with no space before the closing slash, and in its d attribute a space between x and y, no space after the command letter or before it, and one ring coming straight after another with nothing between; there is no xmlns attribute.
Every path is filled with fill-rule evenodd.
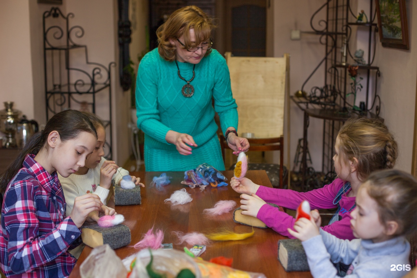
<svg viewBox="0 0 417 278"><path fill-rule="evenodd" d="M131 242L131 233L128 226L123 224L108 228L94 224L82 227L81 238L83 243L92 248L108 244L112 249L116 249Z"/></svg>

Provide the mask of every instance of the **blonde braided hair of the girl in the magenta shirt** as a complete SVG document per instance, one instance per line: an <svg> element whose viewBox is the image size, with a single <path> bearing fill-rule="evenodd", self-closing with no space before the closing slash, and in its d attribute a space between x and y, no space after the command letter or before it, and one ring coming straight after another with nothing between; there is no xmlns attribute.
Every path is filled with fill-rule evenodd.
<svg viewBox="0 0 417 278"><path fill-rule="evenodd" d="M397 142L381 119L350 118L339 130L340 150L344 157L358 160L357 173L365 180L375 170L394 167Z"/></svg>

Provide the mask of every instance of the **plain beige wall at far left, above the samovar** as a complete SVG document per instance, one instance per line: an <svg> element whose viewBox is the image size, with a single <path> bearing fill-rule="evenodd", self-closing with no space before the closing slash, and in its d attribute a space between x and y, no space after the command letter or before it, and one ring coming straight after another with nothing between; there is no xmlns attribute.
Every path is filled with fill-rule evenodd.
<svg viewBox="0 0 417 278"><path fill-rule="evenodd" d="M0 108L14 108L34 117L33 75L30 49L29 0L0 1Z"/></svg>

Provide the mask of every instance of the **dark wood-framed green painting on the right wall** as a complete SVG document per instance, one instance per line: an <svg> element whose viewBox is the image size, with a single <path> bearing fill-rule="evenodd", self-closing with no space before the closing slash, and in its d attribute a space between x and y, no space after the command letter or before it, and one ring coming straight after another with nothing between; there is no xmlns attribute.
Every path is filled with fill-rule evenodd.
<svg viewBox="0 0 417 278"><path fill-rule="evenodd" d="M375 0L382 46L409 49L405 0Z"/></svg>

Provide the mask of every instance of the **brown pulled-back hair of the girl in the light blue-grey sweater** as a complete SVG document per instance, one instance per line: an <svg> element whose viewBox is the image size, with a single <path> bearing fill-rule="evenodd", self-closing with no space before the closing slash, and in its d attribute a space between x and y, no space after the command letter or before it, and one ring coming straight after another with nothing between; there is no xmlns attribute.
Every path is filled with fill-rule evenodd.
<svg viewBox="0 0 417 278"><path fill-rule="evenodd" d="M369 175L361 185L378 205L379 220L396 221L394 235L407 235L417 230L417 180L400 170L380 170Z"/></svg>

